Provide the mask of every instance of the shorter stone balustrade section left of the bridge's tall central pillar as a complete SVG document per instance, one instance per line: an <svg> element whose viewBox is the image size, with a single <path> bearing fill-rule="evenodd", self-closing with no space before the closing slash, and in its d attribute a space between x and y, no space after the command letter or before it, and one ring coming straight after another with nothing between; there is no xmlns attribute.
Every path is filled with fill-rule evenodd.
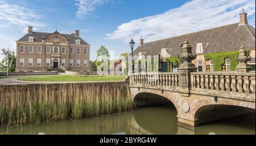
<svg viewBox="0 0 256 146"><path fill-rule="evenodd" d="M144 73L133 74L131 85L152 85L163 87L179 87L179 73Z"/></svg>

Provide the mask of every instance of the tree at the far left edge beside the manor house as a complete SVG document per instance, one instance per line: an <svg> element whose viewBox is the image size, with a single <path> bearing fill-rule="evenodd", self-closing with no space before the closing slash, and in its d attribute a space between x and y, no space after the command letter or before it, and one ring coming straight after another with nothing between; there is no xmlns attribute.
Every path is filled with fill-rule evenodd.
<svg viewBox="0 0 256 146"><path fill-rule="evenodd" d="M14 72L15 67L16 67L16 65L15 65L16 57L15 57L14 51L10 51L10 50L3 48L0 50L0 52L1 52L1 55L3 55L3 60L2 60L2 62L0 62L0 68L2 68L2 71L7 71L7 64L8 64L9 72ZM8 63L7 63L7 60L8 60Z"/></svg>

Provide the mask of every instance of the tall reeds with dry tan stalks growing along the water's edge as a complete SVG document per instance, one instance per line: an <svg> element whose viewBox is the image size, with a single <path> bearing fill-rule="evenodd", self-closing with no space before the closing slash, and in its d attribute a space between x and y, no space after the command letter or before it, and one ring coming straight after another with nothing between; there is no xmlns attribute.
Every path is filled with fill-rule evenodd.
<svg viewBox="0 0 256 146"><path fill-rule="evenodd" d="M133 109L126 84L0 87L0 124L50 122Z"/></svg>

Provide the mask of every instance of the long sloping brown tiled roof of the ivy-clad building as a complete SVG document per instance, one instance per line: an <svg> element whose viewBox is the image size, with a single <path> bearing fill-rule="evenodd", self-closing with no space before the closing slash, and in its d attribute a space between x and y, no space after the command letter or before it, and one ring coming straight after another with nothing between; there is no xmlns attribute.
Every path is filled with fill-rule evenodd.
<svg viewBox="0 0 256 146"><path fill-rule="evenodd" d="M169 48L170 55L177 57L181 54L180 44L188 39L196 53L196 44L204 43L204 54L240 50L243 45L246 49L255 49L255 28L250 25L229 24L204 31L188 33L181 36L153 41L139 46L134 54L146 52L146 55L158 55L161 49Z"/></svg>

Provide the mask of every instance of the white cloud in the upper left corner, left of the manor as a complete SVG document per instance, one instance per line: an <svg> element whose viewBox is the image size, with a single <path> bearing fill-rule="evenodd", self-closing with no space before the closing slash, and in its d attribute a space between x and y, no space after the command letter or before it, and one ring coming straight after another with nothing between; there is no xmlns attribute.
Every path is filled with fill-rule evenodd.
<svg viewBox="0 0 256 146"><path fill-rule="evenodd" d="M15 25L22 31L27 29L28 25L34 27L44 27L44 23L40 23L38 20L42 16L36 14L34 10L20 5L9 5L8 3L0 4L0 26Z"/></svg>

